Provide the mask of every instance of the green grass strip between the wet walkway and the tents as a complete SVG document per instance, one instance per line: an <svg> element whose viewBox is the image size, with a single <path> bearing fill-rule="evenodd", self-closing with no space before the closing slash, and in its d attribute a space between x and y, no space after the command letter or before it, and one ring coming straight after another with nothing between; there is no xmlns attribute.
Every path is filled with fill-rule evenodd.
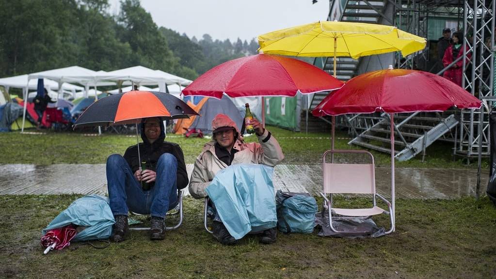
<svg viewBox="0 0 496 279"><path fill-rule="evenodd" d="M320 164L322 153L330 148L328 133L304 133L268 127L278 139L285 159L282 164L313 165ZM348 138L345 133L338 132L337 138ZM185 138L171 135L168 141L178 143L185 154L186 163L194 163L206 138ZM246 138L247 142L256 141L254 135ZM348 145L349 139L337 139L336 149L361 149ZM48 131L43 135L20 134L19 132L0 133L0 164L103 164L110 154L124 154L125 149L136 144L132 135L103 134L87 136L82 133L55 133ZM396 162L397 167L442 167L473 168L477 164L467 165L461 159L453 160L453 145L436 142L427 149L425 162L422 156L406 162ZM376 166L390 165L390 155L371 151ZM474 162L476 162L474 160ZM487 168L488 160L484 160Z"/></svg>

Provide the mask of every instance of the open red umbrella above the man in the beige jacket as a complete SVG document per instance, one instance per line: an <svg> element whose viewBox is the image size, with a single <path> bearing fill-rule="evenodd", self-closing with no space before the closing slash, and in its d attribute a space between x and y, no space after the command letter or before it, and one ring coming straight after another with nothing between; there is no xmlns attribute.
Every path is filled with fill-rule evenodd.
<svg viewBox="0 0 496 279"><path fill-rule="evenodd" d="M310 94L331 91L343 82L302 60L258 54L224 62L202 74L183 94L222 98L253 96L294 97L300 91ZM262 111L264 111L262 100ZM262 123L265 124L265 113Z"/></svg>

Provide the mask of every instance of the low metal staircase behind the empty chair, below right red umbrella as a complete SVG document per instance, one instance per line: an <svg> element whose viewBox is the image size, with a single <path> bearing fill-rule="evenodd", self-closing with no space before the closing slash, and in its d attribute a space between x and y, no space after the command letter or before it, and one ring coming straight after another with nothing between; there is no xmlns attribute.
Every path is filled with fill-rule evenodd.
<svg viewBox="0 0 496 279"><path fill-rule="evenodd" d="M432 112L395 114L395 158L398 161L407 161L425 152L428 146L440 138L451 141L455 133L451 137L446 135L456 127L458 120L454 114L446 115ZM371 117L369 125L349 144L391 153L389 114L381 113L379 117Z"/></svg>

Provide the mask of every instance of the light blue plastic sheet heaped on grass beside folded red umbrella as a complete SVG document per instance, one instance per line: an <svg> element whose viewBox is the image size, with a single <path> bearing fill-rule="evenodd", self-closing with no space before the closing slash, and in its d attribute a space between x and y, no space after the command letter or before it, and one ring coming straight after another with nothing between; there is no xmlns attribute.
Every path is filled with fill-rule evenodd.
<svg viewBox="0 0 496 279"><path fill-rule="evenodd" d="M73 241L106 239L112 233L115 223L114 215L109 206L108 198L99 195L84 196L75 200L62 211L48 226L43 229L45 235L48 230L66 226L68 224L85 226L76 234Z"/></svg>

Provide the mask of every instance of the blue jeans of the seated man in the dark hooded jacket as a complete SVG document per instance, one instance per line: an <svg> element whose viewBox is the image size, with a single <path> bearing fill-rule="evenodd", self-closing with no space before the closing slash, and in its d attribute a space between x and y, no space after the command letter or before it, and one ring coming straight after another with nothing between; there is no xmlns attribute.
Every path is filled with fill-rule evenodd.
<svg viewBox="0 0 496 279"><path fill-rule="evenodd" d="M178 161L169 153L157 162L155 186L143 191L124 157L113 154L107 159L107 184L110 209L114 215L127 215L128 211L165 218L167 211L178 204L176 173Z"/></svg>

